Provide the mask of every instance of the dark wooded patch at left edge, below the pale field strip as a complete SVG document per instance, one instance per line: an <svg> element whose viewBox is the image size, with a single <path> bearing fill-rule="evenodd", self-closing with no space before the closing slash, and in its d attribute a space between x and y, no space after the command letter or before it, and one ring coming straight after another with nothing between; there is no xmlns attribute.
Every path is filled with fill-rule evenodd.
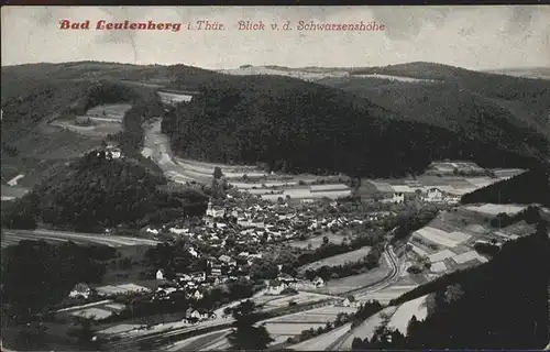
<svg viewBox="0 0 550 352"><path fill-rule="evenodd" d="M2 309L21 319L67 297L78 283L97 284L117 256L108 246L21 241L2 250ZM4 315L2 314L4 317Z"/></svg>

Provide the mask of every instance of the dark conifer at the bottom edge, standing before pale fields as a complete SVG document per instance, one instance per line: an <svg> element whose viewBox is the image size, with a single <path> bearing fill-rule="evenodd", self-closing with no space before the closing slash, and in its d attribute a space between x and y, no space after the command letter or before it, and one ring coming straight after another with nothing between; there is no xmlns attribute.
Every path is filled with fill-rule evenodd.
<svg viewBox="0 0 550 352"><path fill-rule="evenodd" d="M274 341L264 326L254 326L255 308L254 302L249 299L232 309L235 322L228 339L233 350L265 350Z"/></svg>

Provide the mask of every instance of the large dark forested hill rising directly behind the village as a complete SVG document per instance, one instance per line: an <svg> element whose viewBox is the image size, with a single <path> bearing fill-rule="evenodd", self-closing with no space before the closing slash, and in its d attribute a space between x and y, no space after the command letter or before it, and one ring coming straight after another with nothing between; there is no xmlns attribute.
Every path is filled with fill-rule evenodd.
<svg viewBox="0 0 550 352"><path fill-rule="evenodd" d="M240 76L202 85L200 96L164 119L163 131L188 157L371 177L421 172L440 158L532 168L547 155L550 142L535 131L487 124L491 110L473 105L462 112L470 109L482 110L476 123L457 130L404 118L340 89Z"/></svg>

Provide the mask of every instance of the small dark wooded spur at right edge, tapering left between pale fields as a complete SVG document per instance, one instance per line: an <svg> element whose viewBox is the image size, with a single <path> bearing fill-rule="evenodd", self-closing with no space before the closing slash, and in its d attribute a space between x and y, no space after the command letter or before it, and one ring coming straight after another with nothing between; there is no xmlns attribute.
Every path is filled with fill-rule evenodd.
<svg viewBox="0 0 550 352"><path fill-rule="evenodd" d="M464 195L461 204L541 204L550 206L550 176L543 172L527 172L513 178Z"/></svg>

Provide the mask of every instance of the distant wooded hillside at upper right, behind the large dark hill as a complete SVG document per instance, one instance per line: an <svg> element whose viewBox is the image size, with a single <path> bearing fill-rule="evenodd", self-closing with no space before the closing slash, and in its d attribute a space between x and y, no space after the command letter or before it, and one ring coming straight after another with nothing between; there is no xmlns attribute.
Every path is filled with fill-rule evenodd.
<svg viewBox="0 0 550 352"><path fill-rule="evenodd" d="M375 75L408 77L432 82L399 82L386 79L380 87ZM480 73L432 63L410 63L353 69L350 77L319 81L369 97L405 118L430 123L470 124L479 119L498 128L521 128L524 133L543 132L550 139L550 81ZM378 89L380 88L380 89ZM483 116L484 110L492 110ZM495 119L495 120L494 120ZM531 130L531 132L529 132Z"/></svg>

